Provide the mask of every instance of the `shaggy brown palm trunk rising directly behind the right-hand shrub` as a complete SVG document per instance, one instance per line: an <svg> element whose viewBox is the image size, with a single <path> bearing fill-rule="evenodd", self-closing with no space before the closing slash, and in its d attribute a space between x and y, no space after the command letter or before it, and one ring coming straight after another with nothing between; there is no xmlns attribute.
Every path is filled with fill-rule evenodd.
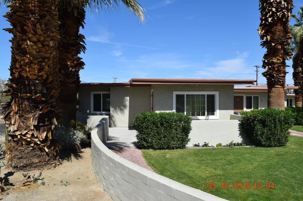
<svg viewBox="0 0 303 201"><path fill-rule="evenodd" d="M292 52L287 46L292 41L288 24L294 7L292 0L259 0L261 23L258 28L261 46L267 48L263 57L262 75L267 80L270 108L285 109L284 87L286 77L286 59Z"/></svg>

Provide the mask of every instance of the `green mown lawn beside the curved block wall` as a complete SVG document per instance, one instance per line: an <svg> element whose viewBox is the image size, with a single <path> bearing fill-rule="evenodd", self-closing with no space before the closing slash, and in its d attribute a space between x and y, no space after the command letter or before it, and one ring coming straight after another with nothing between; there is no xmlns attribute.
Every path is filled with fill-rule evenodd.
<svg viewBox="0 0 303 201"><path fill-rule="evenodd" d="M228 200L303 200L303 137L286 146L142 150L156 173ZM216 189L207 183L215 182ZM222 182L250 183L251 189L222 189ZM261 182L255 189L253 183ZM266 189L267 182L274 189ZM263 188L264 187L264 188Z"/></svg>

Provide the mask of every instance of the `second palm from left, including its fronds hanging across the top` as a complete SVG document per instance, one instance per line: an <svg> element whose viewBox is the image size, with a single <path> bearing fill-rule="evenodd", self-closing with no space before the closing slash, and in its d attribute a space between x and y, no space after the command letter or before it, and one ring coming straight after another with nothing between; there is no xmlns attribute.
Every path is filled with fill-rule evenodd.
<svg viewBox="0 0 303 201"><path fill-rule="evenodd" d="M142 6L135 0L121 0L124 5L143 22L145 13ZM68 124L76 121L77 94L80 84L79 71L85 65L78 55L85 52L84 36L79 34L80 27L84 28L85 7L93 10L102 8L120 8L120 0L59 0L59 65L60 87L59 109L62 120Z"/></svg>

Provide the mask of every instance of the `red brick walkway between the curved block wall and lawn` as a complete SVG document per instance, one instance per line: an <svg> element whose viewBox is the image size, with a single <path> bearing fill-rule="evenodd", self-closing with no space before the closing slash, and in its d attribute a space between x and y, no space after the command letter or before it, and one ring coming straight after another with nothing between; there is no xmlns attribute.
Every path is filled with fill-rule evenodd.
<svg viewBox="0 0 303 201"><path fill-rule="evenodd" d="M122 150L113 150L115 154L121 156L122 158L125 158L128 161L131 161L132 163L135 163L145 169L148 169L150 171L153 171L147 164L145 159L142 156L141 150L137 148L132 147L125 147Z"/></svg>

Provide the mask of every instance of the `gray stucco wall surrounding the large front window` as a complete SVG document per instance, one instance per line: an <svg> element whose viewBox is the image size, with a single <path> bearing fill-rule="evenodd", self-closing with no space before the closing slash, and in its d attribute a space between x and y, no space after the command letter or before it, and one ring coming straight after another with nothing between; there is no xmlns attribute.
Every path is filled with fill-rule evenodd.
<svg viewBox="0 0 303 201"><path fill-rule="evenodd" d="M218 91L219 120L229 120L234 113L234 85L153 85L154 110L172 111L174 91Z"/></svg>

